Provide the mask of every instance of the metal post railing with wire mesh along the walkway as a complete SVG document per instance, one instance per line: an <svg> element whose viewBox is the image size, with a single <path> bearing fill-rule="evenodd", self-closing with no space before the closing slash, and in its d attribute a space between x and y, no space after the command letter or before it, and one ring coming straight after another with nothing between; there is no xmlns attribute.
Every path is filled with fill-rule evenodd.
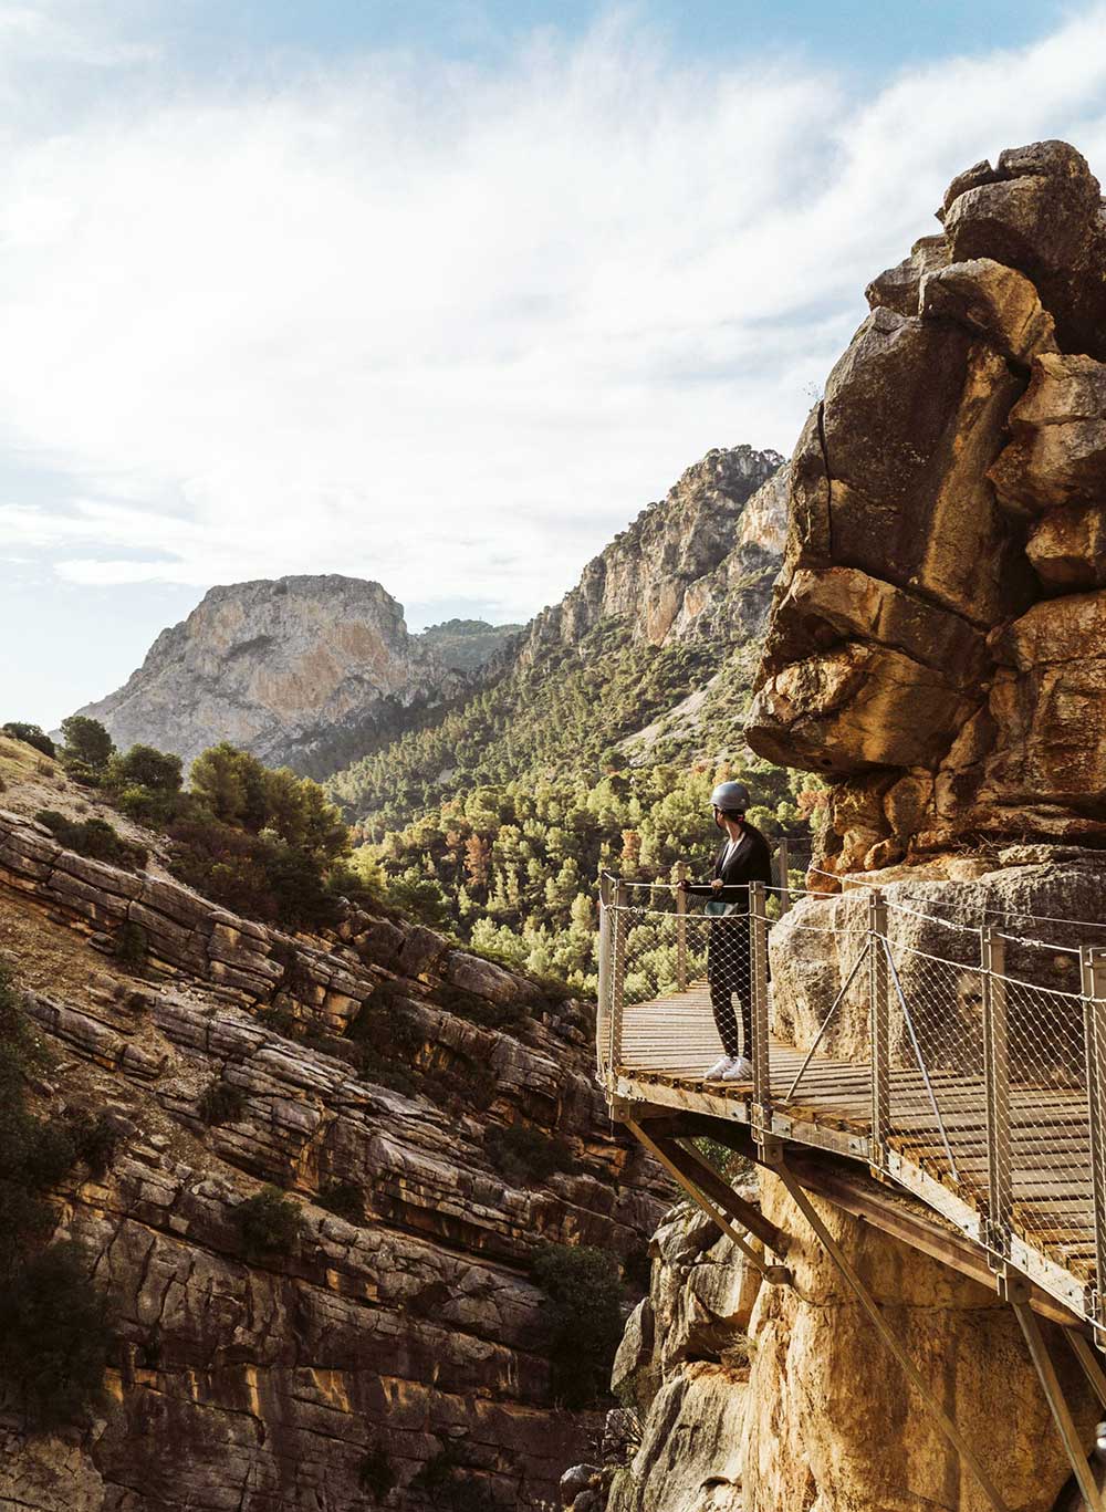
<svg viewBox="0 0 1106 1512"><path fill-rule="evenodd" d="M1106 928L1098 943L1056 945L876 889L790 913L762 885L728 915L707 901L603 878L607 1093L642 1075L718 1092L703 1078L722 1021L752 1061L733 1116L849 1131L848 1154L941 1210L993 1269L1030 1275L1106 1332ZM769 951L775 933L786 950ZM940 950L925 950L934 933Z"/></svg>

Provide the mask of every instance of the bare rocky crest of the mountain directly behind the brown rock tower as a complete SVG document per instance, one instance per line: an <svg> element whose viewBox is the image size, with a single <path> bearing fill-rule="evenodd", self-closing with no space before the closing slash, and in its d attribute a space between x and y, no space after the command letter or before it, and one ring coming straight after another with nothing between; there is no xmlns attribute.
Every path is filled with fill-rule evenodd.
<svg viewBox="0 0 1106 1512"><path fill-rule="evenodd" d="M783 547L786 507L771 484L781 466L778 452L751 446L707 452L532 621L521 661L579 644L604 618L624 620L651 646L684 640L706 631L709 612L733 603L739 585L763 584L760 614L752 594L742 608L758 631Z"/></svg>

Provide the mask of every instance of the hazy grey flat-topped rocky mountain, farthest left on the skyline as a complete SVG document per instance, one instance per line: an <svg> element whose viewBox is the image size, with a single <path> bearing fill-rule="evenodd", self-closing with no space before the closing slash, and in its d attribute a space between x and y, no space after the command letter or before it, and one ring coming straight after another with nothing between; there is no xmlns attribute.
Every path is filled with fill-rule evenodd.
<svg viewBox="0 0 1106 1512"><path fill-rule="evenodd" d="M452 697L509 637L476 621L409 635L376 582L280 578L212 588L163 631L118 692L80 714L192 761L231 741L322 777L399 733L412 706Z"/></svg>

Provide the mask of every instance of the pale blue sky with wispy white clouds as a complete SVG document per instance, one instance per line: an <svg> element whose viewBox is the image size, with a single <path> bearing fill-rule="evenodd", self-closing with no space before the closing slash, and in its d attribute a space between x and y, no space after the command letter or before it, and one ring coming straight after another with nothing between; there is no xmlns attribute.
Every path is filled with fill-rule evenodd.
<svg viewBox="0 0 1106 1512"><path fill-rule="evenodd" d="M0 0L0 721L215 584L529 618L1047 136L1106 5Z"/></svg>

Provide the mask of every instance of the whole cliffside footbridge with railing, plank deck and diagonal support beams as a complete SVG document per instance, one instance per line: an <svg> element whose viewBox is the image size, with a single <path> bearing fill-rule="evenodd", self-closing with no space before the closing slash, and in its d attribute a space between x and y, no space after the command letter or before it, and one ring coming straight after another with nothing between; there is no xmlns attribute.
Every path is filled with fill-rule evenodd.
<svg viewBox="0 0 1106 1512"><path fill-rule="evenodd" d="M808 1193L990 1279L1017 1312L1074 1483L1097 1512L1103 1503L1089 1445L1080 1442L1036 1315L1065 1326L1106 1417L1098 1353L1106 1343L1106 925L1088 924L1077 948L1021 939L1044 957L1035 981L1033 972L1008 972L1002 930L964 930L932 916L959 937L947 957L922 951L888 930L896 904L878 889L866 894L861 925L855 900L845 927L830 898L811 898L789 916L787 950L808 959L801 977L781 971L774 984L769 937L787 915L787 889L752 885L748 912L719 915L678 888L604 878L598 1078L612 1114L774 1284L790 1279L786 1238L766 1232L771 1225L689 1140L709 1136L784 1181L941 1430L1002 1507L973 1445L935 1405ZM1058 951L1077 966L1070 990L1052 984ZM811 990L796 993L796 980ZM745 1081L707 1075L722 1055L716 1016L727 999L734 1010L727 1039L743 1021L752 1072Z"/></svg>

